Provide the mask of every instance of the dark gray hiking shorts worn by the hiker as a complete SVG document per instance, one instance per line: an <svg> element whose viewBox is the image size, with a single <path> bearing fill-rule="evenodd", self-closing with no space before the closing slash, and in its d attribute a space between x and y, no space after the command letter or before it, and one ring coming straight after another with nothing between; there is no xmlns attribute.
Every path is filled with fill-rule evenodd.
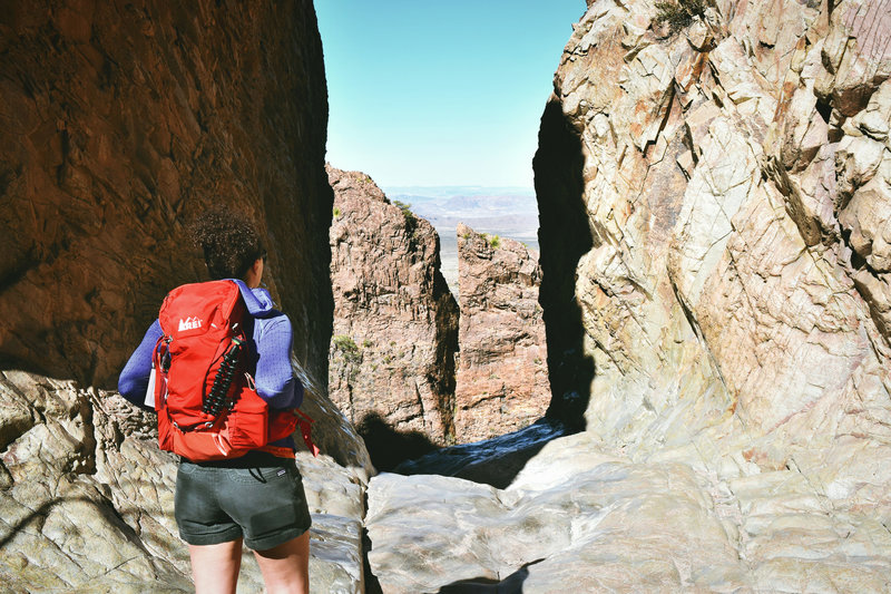
<svg viewBox="0 0 891 594"><path fill-rule="evenodd" d="M297 465L265 452L225 462L180 460L174 515L190 545L243 536L254 551L296 538L312 524Z"/></svg>

